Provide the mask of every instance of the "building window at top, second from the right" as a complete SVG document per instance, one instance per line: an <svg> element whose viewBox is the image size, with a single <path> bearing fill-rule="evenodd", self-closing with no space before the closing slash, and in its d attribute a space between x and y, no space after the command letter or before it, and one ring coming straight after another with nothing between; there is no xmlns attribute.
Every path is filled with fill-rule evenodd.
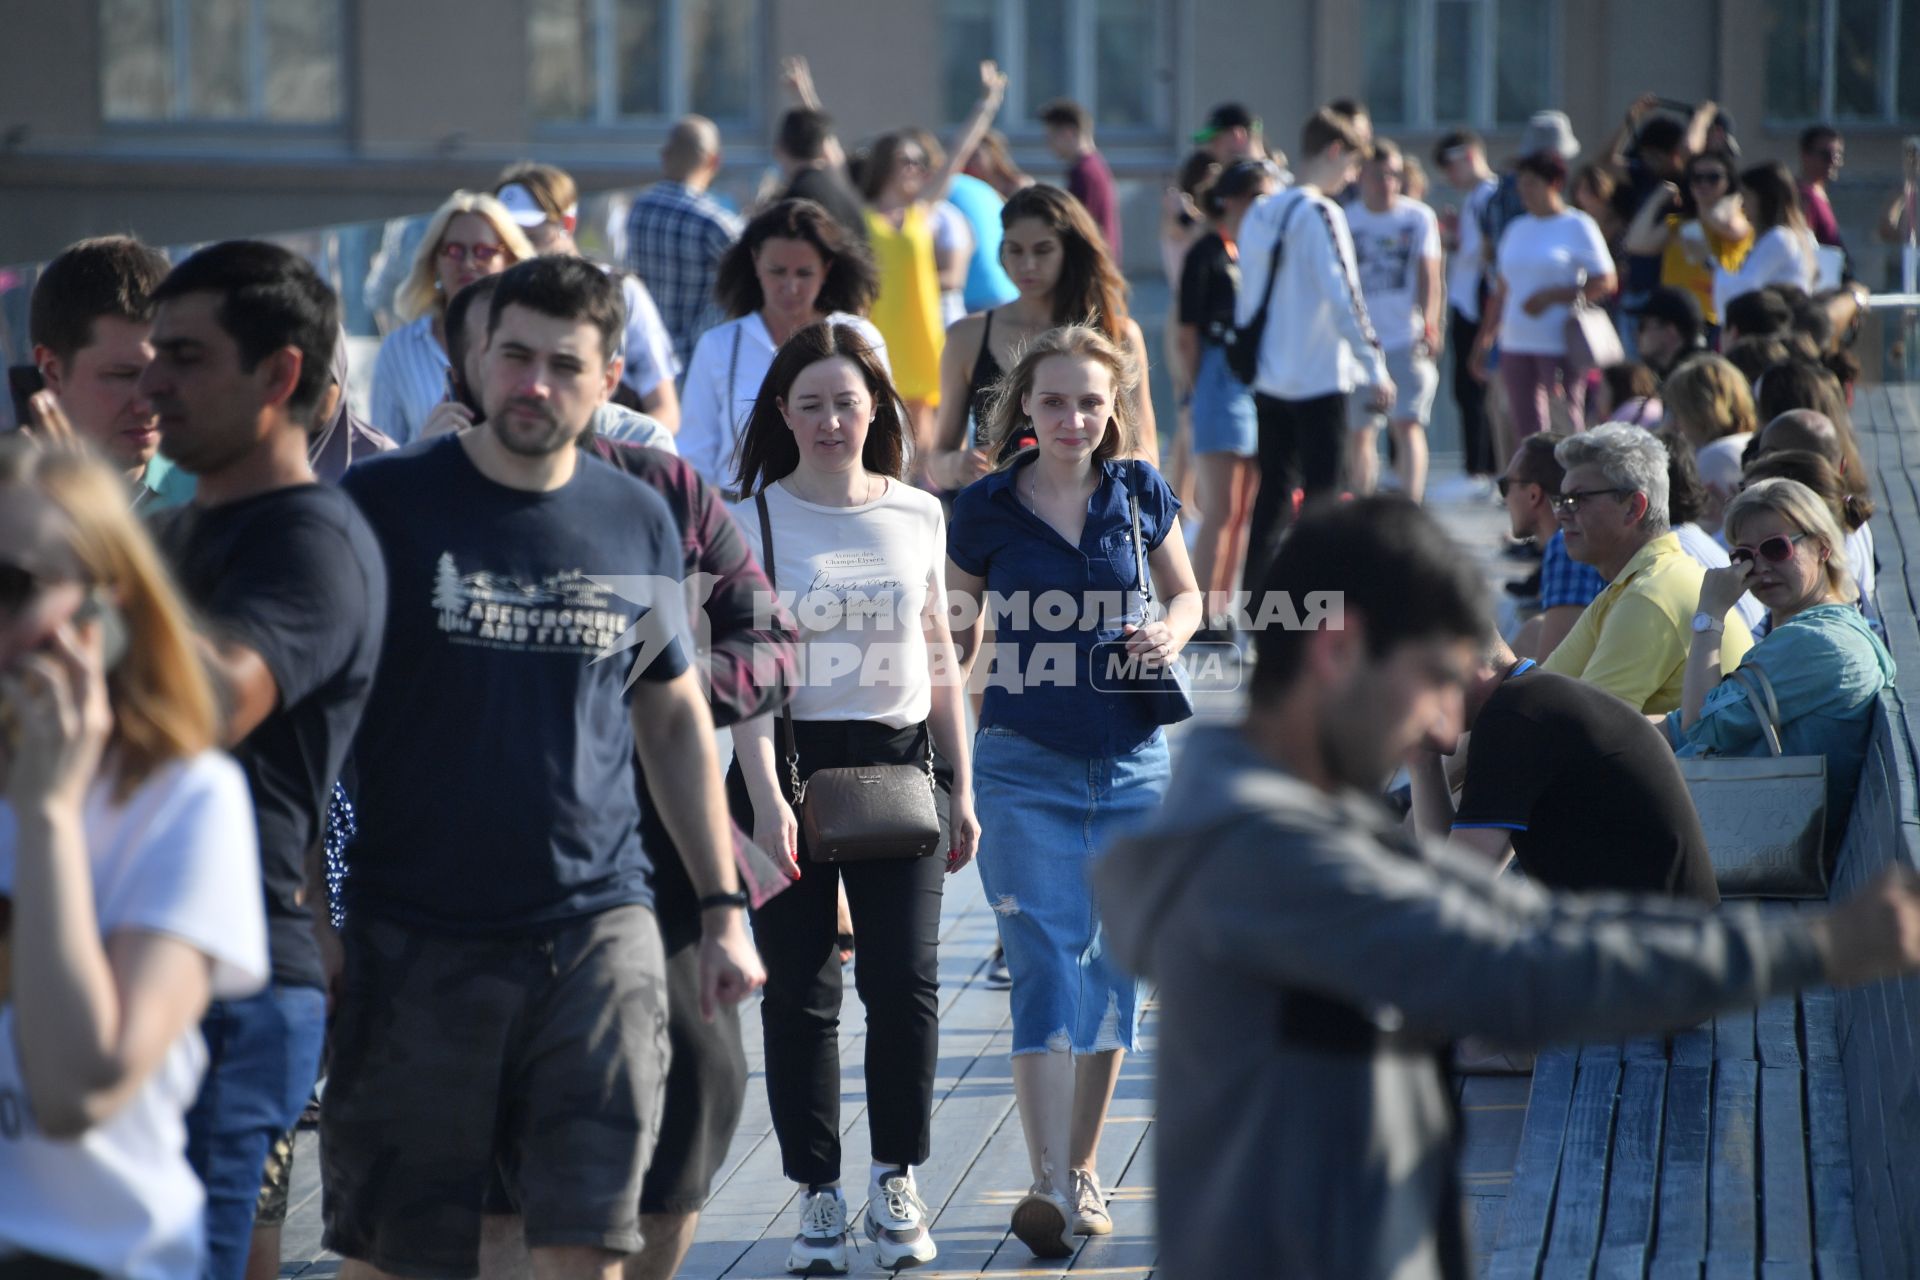
<svg viewBox="0 0 1920 1280"><path fill-rule="evenodd" d="M1379 125L1523 125L1553 106L1553 0L1367 0Z"/></svg>

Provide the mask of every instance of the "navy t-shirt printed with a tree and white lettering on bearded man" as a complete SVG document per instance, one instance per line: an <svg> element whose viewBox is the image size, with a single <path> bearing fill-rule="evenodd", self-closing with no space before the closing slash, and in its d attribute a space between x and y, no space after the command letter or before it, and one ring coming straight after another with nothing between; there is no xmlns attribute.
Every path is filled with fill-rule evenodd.
<svg viewBox="0 0 1920 1280"><path fill-rule="evenodd" d="M687 656L678 637L611 651L649 580L682 578L664 499L584 453L563 487L511 489L459 438L369 459L342 487L390 583L348 915L497 933L651 904L628 676L672 679Z"/></svg>

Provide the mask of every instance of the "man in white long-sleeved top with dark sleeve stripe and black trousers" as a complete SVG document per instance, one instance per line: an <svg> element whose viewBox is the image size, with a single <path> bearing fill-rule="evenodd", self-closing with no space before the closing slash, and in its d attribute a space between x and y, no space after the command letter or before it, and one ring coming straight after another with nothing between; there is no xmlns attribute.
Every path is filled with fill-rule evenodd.
<svg viewBox="0 0 1920 1280"><path fill-rule="evenodd" d="M1350 117L1315 111L1300 130L1298 184L1267 196L1240 223L1235 324L1250 324L1267 307L1254 374L1261 484L1242 574L1250 591L1292 516L1294 489L1308 499L1338 489L1354 388L1371 386L1380 409L1394 403L1394 380L1354 274L1346 215L1327 196L1354 180L1371 146Z"/></svg>

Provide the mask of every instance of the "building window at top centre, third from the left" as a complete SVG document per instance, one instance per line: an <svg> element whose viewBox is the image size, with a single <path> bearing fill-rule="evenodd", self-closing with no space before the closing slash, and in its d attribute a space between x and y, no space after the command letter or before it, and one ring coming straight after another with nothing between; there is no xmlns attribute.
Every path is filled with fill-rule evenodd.
<svg viewBox="0 0 1920 1280"><path fill-rule="evenodd" d="M1110 134L1164 134L1173 79L1167 0L941 0L947 119L979 102L979 63L1008 75L1002 119L1071 98Z"/></svg>

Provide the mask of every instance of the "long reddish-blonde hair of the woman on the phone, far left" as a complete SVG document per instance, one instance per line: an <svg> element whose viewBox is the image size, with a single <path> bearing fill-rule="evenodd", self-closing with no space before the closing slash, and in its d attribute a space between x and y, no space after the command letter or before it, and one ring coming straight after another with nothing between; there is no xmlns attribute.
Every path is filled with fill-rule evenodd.
<svg viewBox="0 0 1920 1280"><path fill-rule="evenodd" d="M102 766L125 798L154 770L217 741L213 685L186 604L129 509L127 486L104 462L8 443L0 447L0 503L8 489L36 491L65 516L88 583L108 591L127 620L127 656L108 674L113 735Z"/></svg>

